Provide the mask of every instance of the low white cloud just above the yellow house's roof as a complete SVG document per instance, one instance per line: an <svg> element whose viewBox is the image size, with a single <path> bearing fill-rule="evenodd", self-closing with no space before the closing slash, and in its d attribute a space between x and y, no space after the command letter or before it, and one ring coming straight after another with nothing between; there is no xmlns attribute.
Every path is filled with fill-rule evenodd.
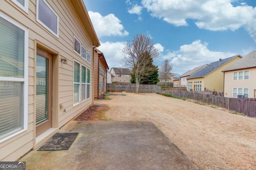
<svg viewBox="0 0 256 170"><path fill-rule="evenodd" d="M196 40L189 45L180 46L178 51L169 52L162 56L162 60L169 59L173 64L173 71L184 74L197 66L238 55L231 52L210 51L207 46L208 43Z"/></svg>

